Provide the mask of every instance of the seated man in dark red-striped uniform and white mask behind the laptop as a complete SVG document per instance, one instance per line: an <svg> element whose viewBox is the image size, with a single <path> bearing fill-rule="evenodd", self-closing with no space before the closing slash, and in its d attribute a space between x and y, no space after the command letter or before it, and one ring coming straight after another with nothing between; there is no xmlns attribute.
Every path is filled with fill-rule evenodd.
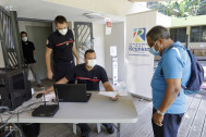
<svg viewBox="0 0 206 137"><path fill-rule="evenodd" d="M99 82L101 80L106 91L113 91L113 88L108 82L107 73L104 67L100 65L96 65L96 53L94 50L87 50L85 52L85 63L76 65L72 71L70 71L65 77L61 78L56 84L66 84L69 80L77 80L77 84L86 84L86 90L99 90ZM47 90L39 91L38 94L48 94L53 91L53 86L48 88ZM116 98L111 98L112 100L118 100L119 95ZM114 128L112 124L105 123L102 124L109 134L113 134ZM88 137L90 128L88 124L78 124L82 130L83 137Z"/></svg>

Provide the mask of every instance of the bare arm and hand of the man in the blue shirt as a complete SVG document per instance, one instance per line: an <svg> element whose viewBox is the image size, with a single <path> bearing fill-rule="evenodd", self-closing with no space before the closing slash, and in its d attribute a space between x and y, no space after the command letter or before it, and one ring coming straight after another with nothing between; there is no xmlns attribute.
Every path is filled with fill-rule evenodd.
<svg viewBox="0 0 206 137"><path fill-rule="evenodd" d="M166 113L166 111L174 102L175 98L178 97L178 95L181 90L181 78L172 78L172 79L166 78L166 83L167 83L166 94L165 94L163 100L158 109L161 113ZM158 114L156 112L153 115L153 120L157 125L161 126L162 121L163 121L163 115Z"/></svg>

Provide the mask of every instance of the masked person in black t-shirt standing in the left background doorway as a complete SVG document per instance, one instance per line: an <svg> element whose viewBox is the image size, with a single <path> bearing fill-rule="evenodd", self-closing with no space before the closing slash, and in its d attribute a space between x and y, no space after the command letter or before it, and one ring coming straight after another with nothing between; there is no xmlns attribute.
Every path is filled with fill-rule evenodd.
<svg viewBox="0 0 206 137"><path fill-rule="evenodd" d="M40 76L36 66L36 61L34 59L35 54L35 46L32 41L28 41L27 33L21 32L21 38L22 38L22 50L24 55L24 62L27 64L28 68L32 71L38 87L43 87Z"/></svg>

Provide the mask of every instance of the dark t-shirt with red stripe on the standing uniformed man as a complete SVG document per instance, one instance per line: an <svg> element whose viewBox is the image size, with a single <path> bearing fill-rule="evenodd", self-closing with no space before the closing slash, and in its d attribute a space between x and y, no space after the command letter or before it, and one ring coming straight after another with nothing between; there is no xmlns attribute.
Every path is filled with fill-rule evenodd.
<svg viewBox="0 0 206 137"><path fill-rule="evenodd" d="M53 50L54 62L71 62L73 61L73 42L74 36L71 29L68 29L65 35L61 35L58 30L48 37L48 48Z"/></svg>

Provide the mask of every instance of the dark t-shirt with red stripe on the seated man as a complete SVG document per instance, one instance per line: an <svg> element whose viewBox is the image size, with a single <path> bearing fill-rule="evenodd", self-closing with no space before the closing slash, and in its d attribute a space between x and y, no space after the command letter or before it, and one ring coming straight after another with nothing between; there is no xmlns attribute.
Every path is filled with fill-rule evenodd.
<svg viewBox="0 0 206 137"><path fill-rule="evenodd" d="M76 65L65 75L68 80L77 79L77 84L86 84L86 90L99 90L99 82L108 82L107 73L100 65L95 65L92 71L87 71L85 63Z"/></svg>

